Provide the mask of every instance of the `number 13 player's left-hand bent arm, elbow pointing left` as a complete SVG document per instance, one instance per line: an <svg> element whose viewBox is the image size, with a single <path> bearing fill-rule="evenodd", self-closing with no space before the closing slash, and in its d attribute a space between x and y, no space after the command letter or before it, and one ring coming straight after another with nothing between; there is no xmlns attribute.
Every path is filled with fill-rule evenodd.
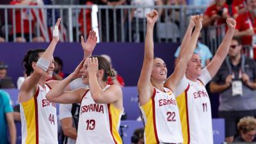
<svg viewBox="0 0 256 144"><path fill-rule="evenodd" d="M79 88L74 91L65 91L67 85L80 77L80 70L83 67L84 60L79 63L74 72L72 72L68 77L60 81L60 83L56 84L50 92L47 93L46 98L51 102L59 102L62 104L72 104L80 102L81 97L84 93L84 88Z"/></svg>

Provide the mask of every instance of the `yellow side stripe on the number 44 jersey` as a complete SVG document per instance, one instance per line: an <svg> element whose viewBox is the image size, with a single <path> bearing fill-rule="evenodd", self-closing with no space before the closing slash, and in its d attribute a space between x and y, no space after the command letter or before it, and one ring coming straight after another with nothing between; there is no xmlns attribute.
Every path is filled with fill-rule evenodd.
<svg viewBox="0 0 256 144"><path fill-rule="evenodd" d="M22 102L22 109L26 120L27 138L26 144L36 143L36 118L35 118L35 99L34 97L26 102Z"/></svg>

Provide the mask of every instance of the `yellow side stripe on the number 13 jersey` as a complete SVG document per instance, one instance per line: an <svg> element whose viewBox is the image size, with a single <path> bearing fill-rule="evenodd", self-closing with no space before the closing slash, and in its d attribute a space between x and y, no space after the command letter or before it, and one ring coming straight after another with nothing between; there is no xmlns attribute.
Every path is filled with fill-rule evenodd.
<svg viewBox="0 0 256 144"><path fill-rule="evenodd" d="M112 126L112 134L113 138L115 139L116 143L121 144L122 138L120 137L118 133L118 124L120 124L120 116L122 116L122 112L120 109L115 108L113 104L110 104L109 106L109 112L111 113L111 126Z"/></svg>

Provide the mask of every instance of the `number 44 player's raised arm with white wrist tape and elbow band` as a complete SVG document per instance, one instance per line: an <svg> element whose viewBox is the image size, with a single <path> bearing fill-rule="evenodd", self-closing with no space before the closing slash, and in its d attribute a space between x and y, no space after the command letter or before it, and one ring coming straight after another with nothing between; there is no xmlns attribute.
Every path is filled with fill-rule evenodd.
<svg viewBox="0 0 256 144"><path fill-rule="evenodd" d="M58 21L56 22L51 44L47 47L45 52L40 57L40 59L43 60L43 65L46 67L49 67L50 63L54 62L52 55L56 44L59 41L58 28L60 26L60 20L61 19L58 19ZM31 74L31 76L25 79L24 83L20 87L19 100L21 100L22 102L29 100L31 99L31 97L33 97L33 92L35 92L38 82L40 81L42 76L45 75L46 72L46 70L43 70L43 68L39 67L38 63L32 62L32 67L34 68L34 72Z"/></svg>

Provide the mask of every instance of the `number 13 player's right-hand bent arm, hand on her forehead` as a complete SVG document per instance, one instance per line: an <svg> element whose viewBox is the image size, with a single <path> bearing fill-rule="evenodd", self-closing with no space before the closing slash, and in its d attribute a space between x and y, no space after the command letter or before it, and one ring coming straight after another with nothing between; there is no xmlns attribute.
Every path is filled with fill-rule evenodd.
<svg viewBox="0 0 256 144"><path fill-rule="evenodd" d="M93 57L86 60L87 70L89 75L90 92L93 100L96 103L110 104L117 103L122 99L122 89L120 86L113 84L107 90L102 90L100 87L100 80L98 81L97 75L99 73L104 76L104 70L99 70L98 58ZM120 108L122 108L120 106Z"/></svg>

